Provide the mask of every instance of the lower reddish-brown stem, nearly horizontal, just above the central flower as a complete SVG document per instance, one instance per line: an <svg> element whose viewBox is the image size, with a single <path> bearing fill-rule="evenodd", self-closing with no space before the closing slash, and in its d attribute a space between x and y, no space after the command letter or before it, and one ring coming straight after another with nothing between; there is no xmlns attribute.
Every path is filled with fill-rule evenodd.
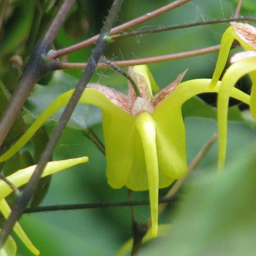
<svg viewBox="0 0 256 256"><path fill-rule="evenodd" d="M185 59L185 58L203 55L211 52L218 52L219 48L220 48L220 45L218 44L218 45L201 48L198 50L192 50L188 52L171 53L166 55L147 57L147 58L141 58L141 59L133 59L133 60L113 61L112 63L120 67L151 64L151 63L165 62L170 60ZM87 66L87 62L85 63L58 62L56 63L56 66L58 66L57 69L84 69ZM108 65L104 62L100 62L97 65L97 68L106 68L106 67L108 67Z"/></svg>

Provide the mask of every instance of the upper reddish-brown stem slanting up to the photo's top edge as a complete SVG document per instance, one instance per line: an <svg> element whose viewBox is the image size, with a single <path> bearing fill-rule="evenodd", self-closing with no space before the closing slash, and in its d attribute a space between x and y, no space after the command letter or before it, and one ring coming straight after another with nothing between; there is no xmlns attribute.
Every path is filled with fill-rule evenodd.
<svg viewBox="0 0 256 256"><path fill-rule="evenodd" d="M170 4L167 4L153 12L149 12L145 15L142 15L136 19L133 19L129 22L126 22L120 26L117 26L113 29L111 29L111 32L110 32L110 35L115 35L116 33L118 32L121 32L121 31L124 31L128 28L131 28L131 27L134 27L142 22L145 22L145 21L148 21L152 18L155 18L165 12L168 12L172 9L175 9L176 7L179 7L180 5L182 4L185 4L187 2L190 2L191 0L177 0L175 2L172 2ZM82 49L82 48L85 48L87 46L90 46L92 44L94 44L99 38L99 35L96 35L94 37L91 37L83 42L80 42L80 43L77 43L77 44L74 44L72 46L69 46L69 47L66 47L66 48L63 48L63 49L60 49L60 50L57 50L57 51L51 51L48 55L49 58L51 59L56 59L60 56L63 56L63 55L66 55L68 53L71 53L71 52L75 52L79 49Z"/></svg>

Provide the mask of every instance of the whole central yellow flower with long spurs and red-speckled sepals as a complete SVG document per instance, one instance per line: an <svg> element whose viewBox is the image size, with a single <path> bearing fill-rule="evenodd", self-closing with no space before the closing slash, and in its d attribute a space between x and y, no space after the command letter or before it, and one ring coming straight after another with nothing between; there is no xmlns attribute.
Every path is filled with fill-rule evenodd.
<svg viewBox="0 0 256 256"><path fill-rule="evenodd" d="M186 72L186 71L185 71ZM129 68L140 96L128 83L128 95L113 88L88 84L79 103L102 109L106 146L106 175L111 187L124 185L131 190L149 190L152 235L158 229L158 190L169 186L187 172L185 126L182 104L199 93L218 92L219 82L209 89L210 79L180 83L185 72L153 96L155 80L146 65ZM0 156L0 162L15 154L35 131L56 111L65 106L74 90L57 97L12 148ZM249 103L249 95L232 88L231 95Z"/></svg>

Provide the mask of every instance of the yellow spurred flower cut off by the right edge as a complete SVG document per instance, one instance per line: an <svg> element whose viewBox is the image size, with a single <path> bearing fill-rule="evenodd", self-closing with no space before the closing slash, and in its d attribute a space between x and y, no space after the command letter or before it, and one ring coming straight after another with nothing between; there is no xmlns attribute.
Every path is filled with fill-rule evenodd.
<svg viewBox="0 0 256 256"><path fill-rule="evenodd" d="M256 27L247 23L232 22L224 32L216 68L210 88L213 88L224 69L232 42L236 39L244 48L244 52L231 57L231 65L226 70L218 94L218 129L219 129L219 168L224 167L227 148L228 103L231 89L244 75L249 74L252 80L250 93L250 110L256 119Z"/></svg>

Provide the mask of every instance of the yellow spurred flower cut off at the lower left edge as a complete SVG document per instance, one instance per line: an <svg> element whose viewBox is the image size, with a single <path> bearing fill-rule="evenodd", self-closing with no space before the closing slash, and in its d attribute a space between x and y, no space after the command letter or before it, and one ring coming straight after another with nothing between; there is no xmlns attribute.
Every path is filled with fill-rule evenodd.
<svg viewBox="0 0 256 256"><path fill-rule="evenodd" d="M66 169L73 165L85 163L87 161L88 161L88 157L84 156L84 157L79 157L79 158L49 162L43 171L42 177L53 174L57 171ZM7 177L7 179L16 187L20 187L29 181L35 168L36 168L36 165L32 165L27 168L18 170L17 172L13 173L12 175L9 175ZM11 208L8 205L5 198L12 192L13 192L12 188L5 181L0 180L0 211L6 219L8 218L9 214L11 213ZM32 242L27 237L26 233L24 232L24 230L22 229L22 227L20 226L20 224L18 222L16 222L16 224L14 225L13 230L33 254L35 254L35 255L40 254L39 250L32 244Z"/></svg>

